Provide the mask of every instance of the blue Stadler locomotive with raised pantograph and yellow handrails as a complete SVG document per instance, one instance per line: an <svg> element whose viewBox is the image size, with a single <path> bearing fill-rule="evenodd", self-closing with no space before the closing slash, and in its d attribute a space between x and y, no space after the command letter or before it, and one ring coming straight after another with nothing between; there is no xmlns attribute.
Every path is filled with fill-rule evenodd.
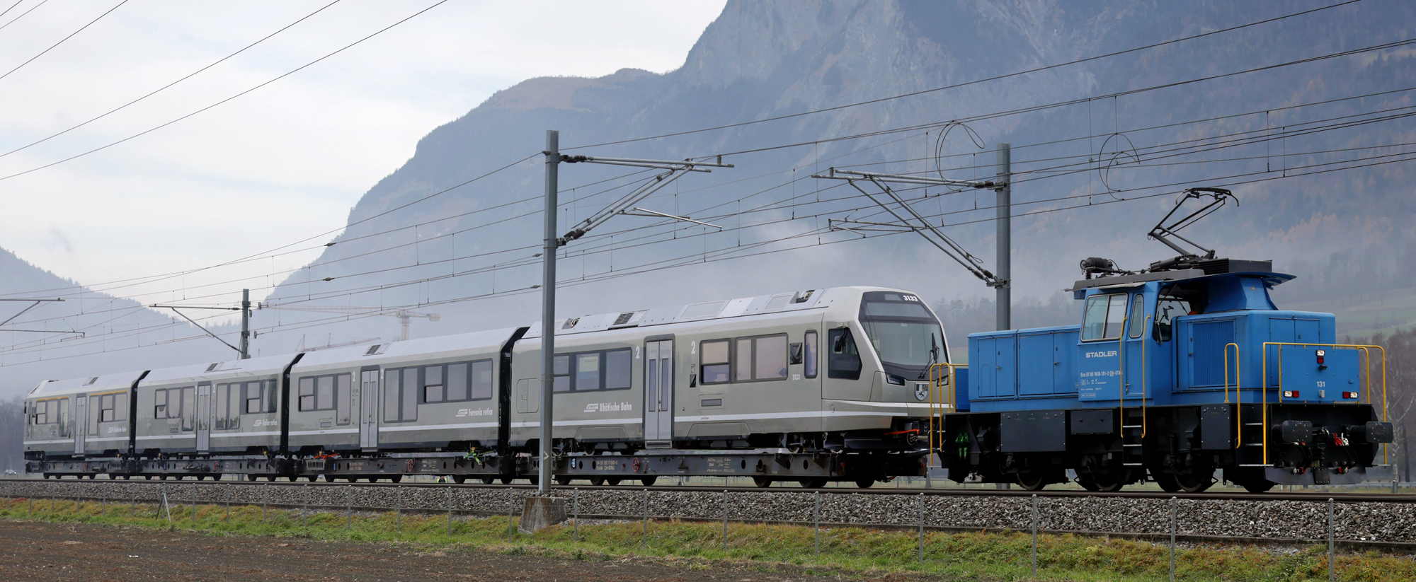
<svg viewBox="0 0 1416 582"><path fill-rule="evenodd" d="M1212 201L1165 226L1194 198ZM1189 189L1150 236L1185 253L1175 232L1231 198ZM1221 469L1255 493L1391 479L1385 353L1338 343L1332 314L1279 309L1269 291L1293 275L1214 250L1082 270L1080 325L969 336L936 441L950 479L1037 490L1070 469L1087 490L1148 476L1202 492Z"/></svg>

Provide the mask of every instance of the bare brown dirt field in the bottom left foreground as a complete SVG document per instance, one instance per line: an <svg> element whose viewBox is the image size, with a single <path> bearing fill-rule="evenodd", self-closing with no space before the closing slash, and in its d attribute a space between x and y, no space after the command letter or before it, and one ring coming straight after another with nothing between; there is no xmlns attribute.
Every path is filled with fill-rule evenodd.
<svg viewBox="0 0 1416 582"><path fill-rule="evenodd" d="M828 576L834 579L835 576ZM398 544L204 535L96 524L0 523L4 581L821 581L729 565L556 559Z"/></svg>

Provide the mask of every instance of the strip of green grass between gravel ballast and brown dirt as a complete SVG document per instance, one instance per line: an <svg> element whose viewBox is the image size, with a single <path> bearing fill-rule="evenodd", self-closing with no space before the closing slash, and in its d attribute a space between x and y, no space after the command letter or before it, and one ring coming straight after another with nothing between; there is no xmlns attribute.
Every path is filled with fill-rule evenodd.
<svg viewBox="0 0 1416 582"><path fill-rule="evenodd" d="M783 568L845 576L879 576L903 572L943 579L1029 579L1031 537L1027 533L939 533L925 535L920 564L913 531L857 527L821 530L821 554L814 552L810 527L732 524L724 550L722 524L650 521L649 545L643 525L634 523L586 524L573 538L571 525L534 535L507 538L506 517L457 518L453 534L442 514L361 514L346 521L343 513L312 513L306 525L299 511L270 510L265 520L258 506L232 506L229 520L222 506L197 506L195 525L190 506L173 506L171 523L153 504L101 503L48 499L14 499L0 503L0 518L55 523L93 523L194 530L212 535L278 535L330 541L408 544L419 551L481 550L506 554L539 554L569 559L613 559L626 555L656 557L684 568L731 562L753 568ZM1199 547L1175 555L1181 581L1324 581L1327 552L1310 547L1280 555L1253 547ZM1165 581L1170 551L1150 542L1041 535L1038 579L1048 581ZM1378 552L1341 554L1340 581L1385 582L1416 579L1416 561Z"/></svg>

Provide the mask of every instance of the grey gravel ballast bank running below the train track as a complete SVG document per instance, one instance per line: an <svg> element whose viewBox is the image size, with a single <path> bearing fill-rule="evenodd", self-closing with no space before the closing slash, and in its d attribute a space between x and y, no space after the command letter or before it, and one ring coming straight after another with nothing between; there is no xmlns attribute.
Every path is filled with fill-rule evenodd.
<svg viewBox="0 0 1416 582"><path fill-rule="evenodd" d="M319 511L455 513L506 516L520 513L525 487L439 485L343 485L248 482L103 482L4 480L0 494L41 503L50 497L110 504L152 504L166 496L171 506L232 504ZM678 487L561 489L568 513L582 518L691 520L733 523L860 525L946 531L1028 531L1034 497L1028 494L952 494L930 490L709 490ZM1341 496L1331 506L1334 540L1345 547L1416 550L1416 499ZM1165 496L1066 494L1039 496L1037 527L1046 533L1189 541L1327 542L1330 506L1321 496Z"/></svg>

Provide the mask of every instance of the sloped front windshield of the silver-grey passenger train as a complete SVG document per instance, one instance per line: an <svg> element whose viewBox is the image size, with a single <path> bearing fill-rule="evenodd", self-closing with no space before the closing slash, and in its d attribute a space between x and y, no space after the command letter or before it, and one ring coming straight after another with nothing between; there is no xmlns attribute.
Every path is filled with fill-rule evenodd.
<svg viewBox="0 0 1416 582"><path fill-rule="evenodd" d="M861 325L891 374L913 379L932 363L949 362L939 319L915 295L867 292Z"/></svg>

